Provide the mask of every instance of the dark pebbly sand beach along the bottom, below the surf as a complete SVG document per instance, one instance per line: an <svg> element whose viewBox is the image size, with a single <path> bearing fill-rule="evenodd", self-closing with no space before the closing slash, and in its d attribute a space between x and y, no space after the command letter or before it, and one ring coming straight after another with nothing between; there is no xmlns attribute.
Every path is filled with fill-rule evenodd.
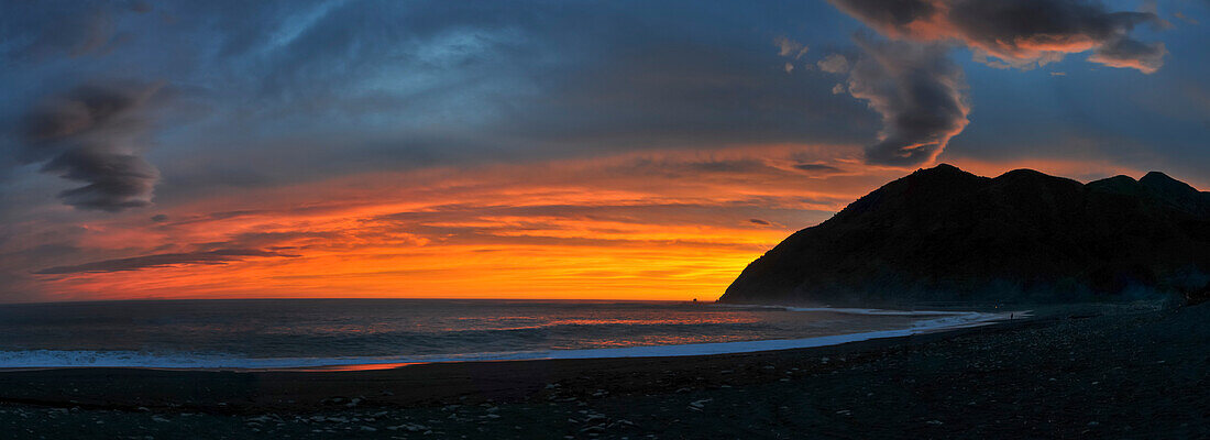
<svg viewBox="0 0 1210 440"><path fill-rule="evenodd" d="M0 438L1206 438L1210 305L834 347L373 371L0 372Z"/></svg>

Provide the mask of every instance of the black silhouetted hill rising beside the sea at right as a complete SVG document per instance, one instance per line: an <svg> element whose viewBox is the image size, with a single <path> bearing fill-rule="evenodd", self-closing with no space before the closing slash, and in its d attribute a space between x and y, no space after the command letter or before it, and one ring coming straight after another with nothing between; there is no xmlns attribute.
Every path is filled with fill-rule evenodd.
<svg viewBox="0 0 1210 440"><path fill-rule="evenodd" d="M1081 184L940 164L795 232L719 301L1070 302L1208 289L1210 192L1158 172Z"/></svg>

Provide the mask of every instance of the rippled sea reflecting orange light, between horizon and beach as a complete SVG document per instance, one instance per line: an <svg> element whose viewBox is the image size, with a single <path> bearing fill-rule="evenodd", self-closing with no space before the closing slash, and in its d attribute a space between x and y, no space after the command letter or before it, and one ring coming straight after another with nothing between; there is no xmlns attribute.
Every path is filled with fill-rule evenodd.
<svg viewBox="0 0 1210 440"><path fill-rule="evenodd" d="M0 369L374 367L692 355L903 336L975 312L670 301L188 300L0 306Z"/></svg>

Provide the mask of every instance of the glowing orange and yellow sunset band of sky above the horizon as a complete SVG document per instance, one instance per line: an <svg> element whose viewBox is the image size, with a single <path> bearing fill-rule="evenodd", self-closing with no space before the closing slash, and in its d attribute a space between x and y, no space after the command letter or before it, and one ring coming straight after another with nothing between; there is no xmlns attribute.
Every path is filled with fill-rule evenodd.
<svg viewBox="0 0 1210 440"><path fill-rule="evenodd" d="M87 222L77 242L88 253L35 277L48 300L714 300L789 233L906 173L859 157L859 146L843 145L669 150L214 195L161 205L159 221L144 212ZM794 167L805 158L818 167ZM991 175L1141 175L1089 162L955 163ZM25 227L36 236L36 225ZM114 262L225 249L257 254Z"/></svg>

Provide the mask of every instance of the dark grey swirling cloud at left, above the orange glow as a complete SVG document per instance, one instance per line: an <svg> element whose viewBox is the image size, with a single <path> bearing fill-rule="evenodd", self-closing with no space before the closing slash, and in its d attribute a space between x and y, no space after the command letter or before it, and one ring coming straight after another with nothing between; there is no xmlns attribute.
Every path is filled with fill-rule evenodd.
<svg viewBox="0 0 1210 440"><path fill-rule="evenodd" d="M51 97L21 121L22 160L83 183L59 193L80 209L151 204L160 172L138 155L146 110L161 85L87 85Z"/></svg>

